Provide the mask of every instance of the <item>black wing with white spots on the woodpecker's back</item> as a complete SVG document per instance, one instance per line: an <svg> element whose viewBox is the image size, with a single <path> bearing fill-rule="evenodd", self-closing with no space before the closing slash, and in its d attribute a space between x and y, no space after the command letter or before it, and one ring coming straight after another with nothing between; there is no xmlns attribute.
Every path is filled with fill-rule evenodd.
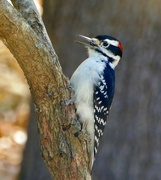
<svg viewBox="0 0 161 180"><path fill-rule="evenodd" d="M106 125L107 115L111 107L115 89L115 75L114 70L106 63L106 68L100 81L94 89L94 157L97 153L100 138Z"/></svg>

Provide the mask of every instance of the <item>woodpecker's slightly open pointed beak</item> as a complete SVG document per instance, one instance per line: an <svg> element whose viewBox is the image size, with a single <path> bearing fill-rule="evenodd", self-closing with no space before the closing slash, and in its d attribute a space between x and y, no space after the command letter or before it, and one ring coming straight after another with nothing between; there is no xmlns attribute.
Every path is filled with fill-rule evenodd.
<svg viewBox="0 0 161 180"><path fill-rule="evenodd" d="M98 39L95 38L89 38L87 36L83 35L77 35L77 37L81 38L81 40L75 40L75 42L82 44L86 47L93 47L93 46L98 46Z"/></svg>

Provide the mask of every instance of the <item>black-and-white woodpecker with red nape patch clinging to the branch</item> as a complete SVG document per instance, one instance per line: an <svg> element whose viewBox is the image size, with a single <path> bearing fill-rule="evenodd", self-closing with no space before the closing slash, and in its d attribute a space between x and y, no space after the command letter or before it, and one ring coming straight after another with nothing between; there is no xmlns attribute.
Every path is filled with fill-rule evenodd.
<svg viewBox="0 0 161 180"><path fill-rule="evenodd" d="M72 100L80 122L91 138L92 165L106 125L115 90L114 69L122 57L122 44L108 35L79 35L89 57L73 73Z"/></svg>

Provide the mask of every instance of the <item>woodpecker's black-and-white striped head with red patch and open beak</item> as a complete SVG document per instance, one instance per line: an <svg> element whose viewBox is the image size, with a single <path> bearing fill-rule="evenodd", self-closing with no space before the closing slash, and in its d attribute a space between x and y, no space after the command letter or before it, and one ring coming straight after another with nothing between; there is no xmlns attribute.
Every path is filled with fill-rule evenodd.
<svg viewBox="0 0 161 180"><path fill-rule="evenodd" d="M112 68L115 68L122 57L122 44L108 35L98 35L94 38L78 35L81 40L76 41L88 49L89 56L100 56L107 60Z"/></svg>

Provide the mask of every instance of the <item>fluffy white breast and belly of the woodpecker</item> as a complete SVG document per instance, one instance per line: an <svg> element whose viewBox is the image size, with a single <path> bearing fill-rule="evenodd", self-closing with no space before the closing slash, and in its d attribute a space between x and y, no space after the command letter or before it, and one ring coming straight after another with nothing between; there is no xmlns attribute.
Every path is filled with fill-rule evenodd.
<svg viewBox="0 0 161 180"><path fill-rule="evenodd" d="M75 91L74 98L79 120L87 126L87 132L94 138L94 85L100 80L105 62L100 57L89 57L76 69L70 83Z"/></svg>

